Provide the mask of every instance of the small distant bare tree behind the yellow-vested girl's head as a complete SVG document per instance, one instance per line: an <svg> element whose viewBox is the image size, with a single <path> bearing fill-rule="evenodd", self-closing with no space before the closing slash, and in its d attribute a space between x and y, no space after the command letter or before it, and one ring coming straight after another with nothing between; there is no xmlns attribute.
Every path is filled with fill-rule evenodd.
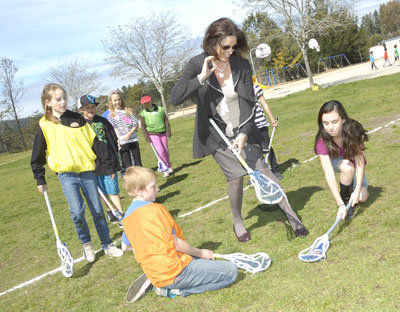
<svg viewBox="0 0 400 312"><path fill-rule="evenodd" d="M78 101L82 95L99 91L101 82L98 79L99 74L91 71L87 64L72 59L50 67L46 81L63 86L69 103L72 102L73 107L78 108ZM71 104L69 106L72 107Z"/></svg>

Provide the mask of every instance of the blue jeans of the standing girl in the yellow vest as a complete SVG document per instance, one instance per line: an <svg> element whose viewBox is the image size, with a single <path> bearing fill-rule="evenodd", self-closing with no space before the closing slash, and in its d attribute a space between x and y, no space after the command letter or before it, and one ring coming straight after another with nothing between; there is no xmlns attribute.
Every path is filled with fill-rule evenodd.
<svg viewBox="0 0 400 312"><path fill-rule="evenodd" d="M85 220L85 202L83 201L80 189L82 189L82 193L92 213L94 225L100 237L101 247L105 249L112 241L97 191L97 179L94 172L61 172L58 174L58 179L67 198L72 221L74 221L75 230L81 243L88 243L91 239L89 227Z"/></svg>

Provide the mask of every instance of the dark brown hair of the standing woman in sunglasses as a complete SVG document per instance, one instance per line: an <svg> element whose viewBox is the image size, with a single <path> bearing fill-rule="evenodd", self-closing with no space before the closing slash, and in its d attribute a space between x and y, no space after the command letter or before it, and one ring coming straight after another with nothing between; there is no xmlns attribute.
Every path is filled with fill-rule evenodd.
<svg viewBox="0 0 400 312"><path fill-rule="evenodd" d="M243 56L249 51L246 36L236 24L229 18L223 17L210 24L206 30L203 39L202 48L209 55L217 56L217 44L228 36L236 36L237 48L233 52L234 55Z"/></svg>

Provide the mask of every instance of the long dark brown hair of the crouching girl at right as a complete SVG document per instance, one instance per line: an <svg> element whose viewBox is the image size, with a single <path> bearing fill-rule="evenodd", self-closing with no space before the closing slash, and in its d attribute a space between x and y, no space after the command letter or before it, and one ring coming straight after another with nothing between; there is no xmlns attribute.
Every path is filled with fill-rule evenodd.
<svg viewBox="0 0 400 312"><path fill-rule="evenodd" d="M324 103L318 113L318 133L315 137L314 150L317 153L316 145L320 138L322 138L329 155L333 158L339 156L339 147L333 138L325 131L322 124L322 116L326 113L336 111L343 119L342 126L342 140L344 148L344 158L352 159L354 156L361 154L365 150L364 142L369 140L367 131L363 126L354 119L347 116L346 110L339 101L329 101Z"/></svg>

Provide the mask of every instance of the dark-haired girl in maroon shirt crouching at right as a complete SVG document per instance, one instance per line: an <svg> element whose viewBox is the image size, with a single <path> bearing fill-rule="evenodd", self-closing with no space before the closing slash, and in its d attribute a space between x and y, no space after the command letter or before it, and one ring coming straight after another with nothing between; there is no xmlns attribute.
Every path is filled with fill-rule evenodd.
<svg viewBox="0 0 400 312"><path fill-rule="evenodd" d="M322 105L318 114L315 152L319 155L329 189L339 207L337 215L343 219L352 218L353 207L368 199L367 162L363 153L364 142L368 139L363 126L347 116L340 102L329 101ZM340 192L334 171L340 172ZM349 201L351 207L346 211Z"/></svg>

